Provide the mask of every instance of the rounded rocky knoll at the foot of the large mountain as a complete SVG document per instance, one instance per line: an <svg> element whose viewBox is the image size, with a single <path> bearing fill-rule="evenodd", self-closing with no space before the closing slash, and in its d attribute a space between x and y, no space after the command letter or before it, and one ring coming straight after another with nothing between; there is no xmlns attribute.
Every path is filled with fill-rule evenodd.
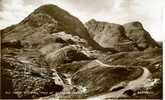
<svg viewBox="0 0 165 100"><path fill-rule="evenodd" d="M50 52L46 55L45 59L50 65L55 67L65 63L71 63L73 61L90 60L92 58L78 50L76 45L70 45L57 51Z"/></svg>

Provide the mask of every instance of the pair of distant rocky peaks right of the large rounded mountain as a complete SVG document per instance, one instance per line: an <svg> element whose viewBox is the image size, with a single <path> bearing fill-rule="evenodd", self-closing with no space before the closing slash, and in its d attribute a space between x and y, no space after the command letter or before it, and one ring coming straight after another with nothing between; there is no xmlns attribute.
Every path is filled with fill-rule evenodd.
<svg viewBox="0 0 165 100"><path fill-rule="evenodd" d="M140 22L130 22L122 26L92 19L85 26L90 36L103 47L115 48L118 51L159 48Z"/></svg>

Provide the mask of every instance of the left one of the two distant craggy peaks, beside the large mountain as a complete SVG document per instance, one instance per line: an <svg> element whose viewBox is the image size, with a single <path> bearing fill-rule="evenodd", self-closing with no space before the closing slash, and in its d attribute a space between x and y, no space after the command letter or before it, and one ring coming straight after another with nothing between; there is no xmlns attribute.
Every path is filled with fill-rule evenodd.
<svg viewBox="0 0 165 100"><path fill-rule="evenodd" d="M118 51L133 51L137 47L127 36L122 25L90 20L86 23L90 36L101 46Z"/></svg>

